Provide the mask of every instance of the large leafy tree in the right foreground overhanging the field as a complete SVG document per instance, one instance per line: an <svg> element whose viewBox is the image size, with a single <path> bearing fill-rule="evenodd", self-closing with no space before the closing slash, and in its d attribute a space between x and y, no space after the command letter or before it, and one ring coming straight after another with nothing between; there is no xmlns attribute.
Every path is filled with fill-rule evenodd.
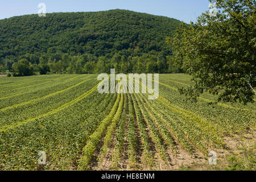
<svg viewBox="0 0 256 182"><path fill-rule="evenodd" d="M195 24L178 28L168 42L175 60L193 76L180 92L196 98L209 91L219 101L253 102L256 86L254 0L210 0L216 16L203 13Z"/></svg>

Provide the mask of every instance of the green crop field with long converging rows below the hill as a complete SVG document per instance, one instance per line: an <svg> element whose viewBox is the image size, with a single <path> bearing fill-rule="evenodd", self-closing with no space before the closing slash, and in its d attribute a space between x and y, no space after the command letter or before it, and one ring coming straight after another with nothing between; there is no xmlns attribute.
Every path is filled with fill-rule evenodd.
<svg viewBox="0 0 256 182"><path fill-rule="evenodd" d="M189 76L159 76L159 98L99 94L97 75L0 78L0 170L172 170L255 144L256 105L194 103ZM143 86L143 85L142 85ZM45 165L38 164L45 151Z"/></svg>

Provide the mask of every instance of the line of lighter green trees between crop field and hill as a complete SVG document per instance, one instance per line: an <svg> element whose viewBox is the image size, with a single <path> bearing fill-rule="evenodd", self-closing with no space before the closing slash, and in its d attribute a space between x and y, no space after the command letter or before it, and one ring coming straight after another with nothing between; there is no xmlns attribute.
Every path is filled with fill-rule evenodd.
<svg viewBox="0 0 256 182"><path fill-rule="evenodd" d="M182 73L183 69L175 65L172 56L143 54L142 56L125 56L115 54L108 59L105 56L93 55L70 56L60 54L59 59L40 57L39 64L31 64L31 55L20 57L8 68L13 76L31 76L35 74L96 74L110 73L114 68L118 73ZM88 61L89 60L89 61Z"/></svg>

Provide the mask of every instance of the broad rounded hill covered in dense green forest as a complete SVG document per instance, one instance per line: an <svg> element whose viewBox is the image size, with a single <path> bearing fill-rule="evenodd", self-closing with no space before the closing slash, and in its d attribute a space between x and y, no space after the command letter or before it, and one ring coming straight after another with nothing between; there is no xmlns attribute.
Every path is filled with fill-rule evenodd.
<svg viewBox="0 0 256 182"><path fill-rule="evenodd" d="M179 26L176 19L127 10L15 16L0 20L0 65L11 69L13 63L27 59L51 67L60 61L62 68L52 66L52 72L87 73L85 64L94 68L101 60L105 68L121 69L125 64L123 68L131 70L123 72L146 72L151 62L150 69L168 72L171 48L165 40ZM78 59L80 71L67 69Z"/></svg>

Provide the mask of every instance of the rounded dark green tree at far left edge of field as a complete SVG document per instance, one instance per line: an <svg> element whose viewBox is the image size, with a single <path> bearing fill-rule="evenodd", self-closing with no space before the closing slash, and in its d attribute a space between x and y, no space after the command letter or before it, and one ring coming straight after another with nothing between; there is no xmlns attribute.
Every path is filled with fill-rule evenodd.
<svg viewBox="0 0 256 182"><path fill-rule="evenodd" d="M33 75L32 64L27 59L21 59L18 63L13 64L15 76L31 76Z"/></svg>

